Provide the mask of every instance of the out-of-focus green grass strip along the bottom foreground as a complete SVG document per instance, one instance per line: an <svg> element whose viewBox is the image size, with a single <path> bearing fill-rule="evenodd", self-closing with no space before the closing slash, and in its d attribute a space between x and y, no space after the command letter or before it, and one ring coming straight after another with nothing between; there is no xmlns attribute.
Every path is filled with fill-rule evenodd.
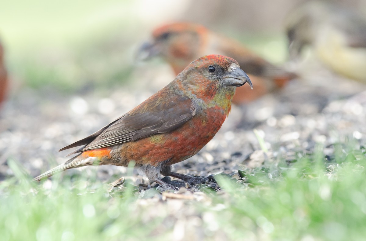
<svg viewBox="0 0 366 241"><path fill-rule="evenodd" d="M0 239L167 240L180 219L189 220L182 213L195 213L204 240L362 240L366 149L336 148L340 155L330 162L319 146L291 164L268 162L240 171L239 180L221 178L223 192L207 193L209 204L186 201L179 214L166 211L167 202L142 204L131 189L112 197L93 178L80 188L57 177L51 187L34 185L10 163L16 177L0 183Z"/></svg>

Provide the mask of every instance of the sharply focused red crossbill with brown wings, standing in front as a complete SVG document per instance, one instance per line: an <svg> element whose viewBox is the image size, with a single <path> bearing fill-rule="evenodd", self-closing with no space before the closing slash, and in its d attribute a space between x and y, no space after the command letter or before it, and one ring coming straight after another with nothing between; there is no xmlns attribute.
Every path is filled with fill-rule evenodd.
<svg viewBox="0 0 366 241"><path fill-rule="evenodd" d="M171 172L171 165L195 155L213 138L231 110L236 87L246 82L252 86L236 60L203 56L127 114L60 149L83 145L71 153L77 156L34 179L69 168L128 166L134 161L151 181L163 189L175 189L158 174L190 182L192 177Z"/></svg>

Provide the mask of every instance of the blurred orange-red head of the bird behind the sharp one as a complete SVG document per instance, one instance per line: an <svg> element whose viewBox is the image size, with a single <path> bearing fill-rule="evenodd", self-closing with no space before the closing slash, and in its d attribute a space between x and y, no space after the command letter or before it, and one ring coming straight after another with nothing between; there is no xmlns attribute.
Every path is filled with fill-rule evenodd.
<svg viewBox="0 0 366 241"><path fill-rule="evenodd" d="M179 73L199 56L199 49L205 44L208 30L194 23L172 23L155 29L152 41L139 49L139 60L160 56Z"/></svg>

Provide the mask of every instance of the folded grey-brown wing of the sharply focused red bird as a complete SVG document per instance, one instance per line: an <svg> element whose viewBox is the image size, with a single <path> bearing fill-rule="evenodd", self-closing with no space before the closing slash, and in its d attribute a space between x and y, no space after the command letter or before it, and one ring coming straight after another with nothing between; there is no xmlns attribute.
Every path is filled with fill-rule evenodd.
<svg viewBox="0 0 366 241"><path fill-rule="evenodd" d="M195 104L185 96L177 95L159 102L161 104L158 104L154 98L150 101L145 101L93 135L75 142L75 144L86 146L70 154L110 147L175 130L191 119L196 111ZM87 141L90 142L86 143ZM71 144L68 147L75 147L75 144ZM67 149L67 147L61 150L64 149Z"/></svg>

